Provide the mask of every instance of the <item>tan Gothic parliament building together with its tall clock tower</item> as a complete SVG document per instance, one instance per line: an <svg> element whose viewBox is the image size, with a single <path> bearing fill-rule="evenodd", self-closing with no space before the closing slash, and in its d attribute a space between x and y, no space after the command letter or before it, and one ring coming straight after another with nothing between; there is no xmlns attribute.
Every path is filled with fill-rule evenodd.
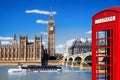
<svg viewBox="0 0 120 80"><path fill-rule="evenodd" d="M28 42L28 36L19 36L17 41L14 34L12 45L2 45L0 43L0 65L41 65L42 59L47 54L49 57L55 54L55 22L53 13L48 21L48 48L42 44L42 34L38 37L34 35L34 42ZM47 57L48 57L47 56Z"/></svg>

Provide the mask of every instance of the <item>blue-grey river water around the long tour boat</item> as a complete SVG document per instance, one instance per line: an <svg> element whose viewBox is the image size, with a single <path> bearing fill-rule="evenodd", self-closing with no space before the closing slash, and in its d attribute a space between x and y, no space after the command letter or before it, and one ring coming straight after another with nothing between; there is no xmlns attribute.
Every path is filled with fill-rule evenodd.
<svg viewBox="0 0 120 80"><path fill-rule="evenodd" d="M62 66L62 72L8 73L11 66L0 67L0 80L91 80L91 71Z"/></svg>

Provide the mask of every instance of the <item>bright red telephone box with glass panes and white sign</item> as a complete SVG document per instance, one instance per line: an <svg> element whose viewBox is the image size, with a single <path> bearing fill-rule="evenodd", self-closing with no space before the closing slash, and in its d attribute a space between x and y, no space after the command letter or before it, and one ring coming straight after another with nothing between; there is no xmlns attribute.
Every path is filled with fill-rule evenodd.
<svg viewBox="0 0 120 80"><path fill-rule="evenodd" d="M92 80L120 80L120 6L92 17Z"/></svg>

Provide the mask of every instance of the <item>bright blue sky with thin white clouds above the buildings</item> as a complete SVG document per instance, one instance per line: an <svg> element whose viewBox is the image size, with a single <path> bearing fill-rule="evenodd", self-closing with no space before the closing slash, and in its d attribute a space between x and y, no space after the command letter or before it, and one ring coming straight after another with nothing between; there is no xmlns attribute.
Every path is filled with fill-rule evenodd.
<svg viewBox="0 0 120 80"><path fill-rule="evenodd" d="M56 23L56 47L79 37L91 38L91 18L97 12L120 6L120 0L0 0L0 40L43 34L47 41L47 23L52 9Z"/></svg>

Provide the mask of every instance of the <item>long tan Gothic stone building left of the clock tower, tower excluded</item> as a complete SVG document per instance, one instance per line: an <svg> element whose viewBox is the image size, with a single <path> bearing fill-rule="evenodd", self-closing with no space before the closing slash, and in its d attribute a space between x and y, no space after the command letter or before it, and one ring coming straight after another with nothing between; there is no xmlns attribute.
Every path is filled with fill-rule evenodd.
<svg viewBox="0 0 120 80"><path fill-rule="evenodd" d="M44 49L41 37L34 36L34 42L28 42L28 36L19 36L19 42L14 35L12 45L0 45L0 63L3 65L13 63L34 64L41 63ZM11 63L12 64L12 63ZM14 64L13 64L14 65Z"/></svg>

